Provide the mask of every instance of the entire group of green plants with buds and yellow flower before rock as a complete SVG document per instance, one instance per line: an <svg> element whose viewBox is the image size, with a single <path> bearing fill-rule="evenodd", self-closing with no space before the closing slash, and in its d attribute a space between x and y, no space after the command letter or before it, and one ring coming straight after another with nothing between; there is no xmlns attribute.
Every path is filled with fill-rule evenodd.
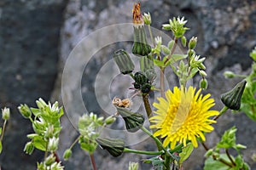
<svg viewBox="0 0 256 170"><path fill-rule="evenodd" d="M150 157L143 162L152 164L157 170L183 169L183 162L201 143L206 149L205 170L250 169L241 153L246 146L236 144L236 127L226 130L220 141L212 148L208 148L204 142L207 140L205 134L214 130L212 124L217 123L218 118L229 109L234 112L244 112L256 121L256 48L250 54L253 64L249 75L236 75L231 71L224 73L225 77L241 77L242 80L221 96L224 107L220 111L215 111L212 110L215 101L211 98L211 94L201 94L208 85L207 68L204 65L206 57L196 54L197 37L191 37L189 40L185 37L186 31L189 30L185 26L187 20L184 17L173 17L164 24L163 30L169 31L173 38L167 44L163 44L162 37L154 37L151 31L150 14L141 14L140 3L134 4L132 15L134 42L130 50L139 58L140 70L135 70L131 54L126 51L129 49L114 51L113 59L120 73L133 80L130 90L134 91L134 95L130 99L114 98L112 103L116 113L107 118L99 117L94 113L81 116L78 123L79 137L65 151L63 159L68 160L72 156L74 144L79 143L80 148L89 154L94 170L96 170L94 152L98 145L103 150L108 150L114 157L125 152L148 155ZM185 54L176 52L178 45L183 47ZM164 78L167 68L172 69L179 85L175 86L173 82L173 88L166 90ZM195 75L201 77L199 88L188 85L188 81ZM159 87L156 84L160 84ZM160 92L160 97L157 102L151 104L148 98L149 94L154 92ZM143 100L145 114L131 111L130 106L135 96ZM34 133L27 135L30 141L26 143L24 151L30 155L34 149L44 151L44 160L38 162L40 170L64 169L56 154L63 109L57 102L51 105L45 103L43 99L38 99L36 103L38 108L30 108L27 105L20 105L18 108L20 114L30 120L34 130ZM3 129L0 129L0 152L4 129L9 119L9 109L4 108L2 112L4 123ZM140 130L152 138L156 146L155 150L132 150L125 146L123 139L103 138L102 129L115 122L118 116L122 117L129 133ZM147 120L150 122L149 127L144 123ZM230 155L231 149L236 150L235 156ZM137 169L138 164L130 162L129 170Z"/></svg>

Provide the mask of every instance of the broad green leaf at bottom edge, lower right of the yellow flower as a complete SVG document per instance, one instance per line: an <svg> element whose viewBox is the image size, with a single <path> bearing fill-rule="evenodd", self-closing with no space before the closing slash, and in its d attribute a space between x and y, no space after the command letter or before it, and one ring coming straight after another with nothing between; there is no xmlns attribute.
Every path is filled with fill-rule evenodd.
<svg viewBox="0 0 256 170"><path fill-rule="evenodd" d="M220 154L219 155L220 158L224 159L225 161L230 162L229 157L226 154ZM204 166L204 170L231 170L230 167L228 167L227 165L225 165L224 163L217 161L217 160L213 160L212 156L208 157L207 160L205 161L205 166Z"/></svg>

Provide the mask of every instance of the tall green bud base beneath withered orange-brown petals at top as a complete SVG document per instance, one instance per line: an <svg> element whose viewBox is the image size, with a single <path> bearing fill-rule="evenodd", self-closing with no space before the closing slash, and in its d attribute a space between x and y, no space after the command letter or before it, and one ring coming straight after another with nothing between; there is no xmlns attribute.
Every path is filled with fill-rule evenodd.
<svg viewBox="0 0 256 170"><path fill-rule="evenodd" d="M138 56L146 56L151 52L148 45L144 26L134 26L134 43L132 46L132 54Z"/></svg>

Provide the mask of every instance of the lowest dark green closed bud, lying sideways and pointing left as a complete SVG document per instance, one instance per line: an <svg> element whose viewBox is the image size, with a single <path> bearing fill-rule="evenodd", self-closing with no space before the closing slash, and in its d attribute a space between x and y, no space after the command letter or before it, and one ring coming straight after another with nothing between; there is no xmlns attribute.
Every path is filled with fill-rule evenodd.
<svg viewBox="0 0 256 170"><path fill-rule="evenodd" d="M96 142L114 157L122 155L125 150L125 142L121 139L96 138Z"/></svg>

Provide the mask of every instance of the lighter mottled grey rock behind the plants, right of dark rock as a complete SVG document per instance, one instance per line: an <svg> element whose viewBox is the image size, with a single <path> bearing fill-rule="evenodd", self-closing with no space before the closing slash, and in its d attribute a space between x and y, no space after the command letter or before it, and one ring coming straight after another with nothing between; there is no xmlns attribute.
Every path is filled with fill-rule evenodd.
<svg viewBox="0 0 256 170"><path fill-rule="evenodd" d="M90 35L103 26L110 26L112 24L119 23L131 23L131 8L135 2L122 2L122 1L86 1L71 0L67 5L67 13L65 15L64 26L61 33L61 59L63 65L70 54L71 50L78 44L83 37ZM207 56L207 74L209 89L208 93L212 94L212 97L216 99L217 105L215 109L220 109L222 104L219 100L220 94L232 88L239 79L224 80L222 76L226 70L235 71L236 73L248 73L248 68L251 65L252 60L249 58L249 52L253 46L256 45L256 3L254 1L143 1L141 3L143 12L150 12L155 28L160 29L162 24L168 22L168 20L174 16L185 16L186 20L189 20L188 27L191 29L187 31L187 37L198 37L198 45L196 51L202 56ZM168 32L166 32L168 33ZM115 34L109 33L102 38L112 38ZM100 44L98 42L91 42L88 45L96 46ZM94 111L96 113L104 113L104 108L101 108L99 101L96 97L96 77L99 71L106 63L111 59L111 55L117 48L124 48L115 44L109 48L103 48L95 56L90 59L90 64L80 66L80 71L84 71L83 78L81 80L81 93L84 99L84 105L88 111ZM131 44L126 44L127 50L131 49ZM74 67L78 64L74 64ZM64 67L64 66L63 66ZM113 70L109 70L113 71ZM108 72L105 72L108 75ZM110 77L110 73L108 75ZM106 76L106 79L108 79ZM195 77L195 83L197 83L199 77ZM72 82L72 83L71 83ZM119 81L122 82L122 81ZM63 86L64 83L64 86ZM80 82L79 82L80 83ZM129 82L130 83L130 82ZM62 82L62 88L70 90L70 105L73 98L77 94L73 94L79 85L74 85L73 78L66 79ZM118 85L113 85L118 86ZM195 84L196 86L196 84ZM112 88L112 87L111 87ZM112 91L108 87L106 91L110 95L119 95L125 97L125 89L114 88ZM63 94L62 94L63 95ZM113 97L113 96L112 96ZM104 98L104 94L102 94ZM109 97L108 97L109 98ZM107 100L109 100L107 98ZM67 102L68 103L68 102ZM79 112L82 108L77 108ZM102 111L103 110L103 111ZM107 110L107 109L106 109ZM82 114L82 113L78 113ZM247 144L248 149L244 151L247 162L251 165L253 161L250 156L256 152L256 148L253 145L252 133L247 132L249 129L255 129L255 123L242 115L223 116L216 126L216 132L207 135L207 144L212 146L218 142L218 138L224 130L235 125L241 130L238 130L238 142L241 144ZM242 122L239 121L242 117ZM68 122L66 122L68 123ZM67 132L71 132L70 129ZM251 132L251 131L248 131ZM243 135L242 135L243 134ZM67 136L67 133L63 133L63 136ZM75 134L73 135L75 136ZM247 140L246 140L247 139ZM249 140L248 140L249 139ZM137 149L145 149L146 143L136 144L131 147ZM68 147L68 144L62 144L61 150ZM149 146L154 148L154 146ZM73 154L73 161L67 161L67 169L81 168L89 163L89 157L84 156L84 153L76 148ZM150 149L149 149L150 150ZM253 151L254 150L254 151ZM199 147L194 151L193 157L186 163L185 167L188 169L202 169L205 150ZM81 158L82 156L82 158ZM145 157L144 157L145 158ZM87 161L83 161L83 160ZM132 155L132 161L141 161L142 157ZM80 161L79 161L80 160ZM81 162L83 161L83 163ZM106 151L96 151L96 161L98 162L99 169L125 169L131 161L131 154L125 154L121 158L113 158L108 156ZM83 165L82 165L83 164ZM255 166L255 165L254 165ZM142 169L148 169L147 165L141 165Z"/></svg>

